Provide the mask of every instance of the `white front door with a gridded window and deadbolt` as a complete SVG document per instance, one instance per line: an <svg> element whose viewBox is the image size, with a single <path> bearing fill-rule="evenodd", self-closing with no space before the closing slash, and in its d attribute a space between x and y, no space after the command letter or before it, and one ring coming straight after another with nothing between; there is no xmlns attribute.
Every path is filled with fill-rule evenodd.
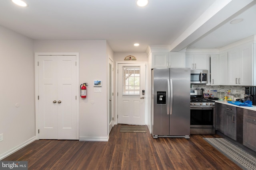
<svg viewBox="0 0 256 170"><path fill-rule="evenodd" d="M118 64L118 123L145 125L146 64Z"/></svg>

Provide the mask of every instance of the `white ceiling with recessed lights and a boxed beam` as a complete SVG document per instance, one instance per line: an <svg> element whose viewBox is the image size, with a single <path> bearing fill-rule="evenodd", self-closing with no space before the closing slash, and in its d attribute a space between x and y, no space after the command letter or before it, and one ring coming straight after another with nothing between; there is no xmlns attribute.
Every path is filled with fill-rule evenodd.
<svg viewBox="0 0 256 170"><path fill-rule="evenodd" d="M1 0L0 25L35 40L106 39L114 52L219 48L256 34L256 0L149 0L144 8L136 0L24 1ZM234 18L244 20L229 24Z"/></svg>

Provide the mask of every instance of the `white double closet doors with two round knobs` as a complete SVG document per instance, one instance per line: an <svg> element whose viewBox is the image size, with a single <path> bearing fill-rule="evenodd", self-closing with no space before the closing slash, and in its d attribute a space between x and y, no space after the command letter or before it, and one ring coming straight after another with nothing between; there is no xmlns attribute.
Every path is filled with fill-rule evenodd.
<svg viewBox="0 0 256 170"><path fill-rule="evenodd" d="M39 139L76 137L76 56L38 56Z"/></svg>

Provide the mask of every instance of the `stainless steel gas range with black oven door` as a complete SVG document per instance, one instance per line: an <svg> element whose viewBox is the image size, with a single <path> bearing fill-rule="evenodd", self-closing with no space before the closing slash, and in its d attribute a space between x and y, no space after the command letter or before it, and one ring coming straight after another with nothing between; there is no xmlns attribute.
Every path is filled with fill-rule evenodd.
<svg viewBox="0 0 256 170"><path fill-rule="evenodd" d="M202 90L190 90L190 134L215 134L215 101L203 98Z"/></svg>

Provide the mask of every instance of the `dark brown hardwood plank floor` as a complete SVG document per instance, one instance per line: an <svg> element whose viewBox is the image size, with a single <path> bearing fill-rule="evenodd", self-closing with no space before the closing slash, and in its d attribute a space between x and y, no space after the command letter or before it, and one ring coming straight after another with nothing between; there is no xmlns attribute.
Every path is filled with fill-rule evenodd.
<svg viewBox="0 0 256 170"><path fill-rule="evenodd" d="M28 161L29 170L240 170L203 137L153 139L122 133L115 125L108 142L37 140L3 160Z"/></svg>

